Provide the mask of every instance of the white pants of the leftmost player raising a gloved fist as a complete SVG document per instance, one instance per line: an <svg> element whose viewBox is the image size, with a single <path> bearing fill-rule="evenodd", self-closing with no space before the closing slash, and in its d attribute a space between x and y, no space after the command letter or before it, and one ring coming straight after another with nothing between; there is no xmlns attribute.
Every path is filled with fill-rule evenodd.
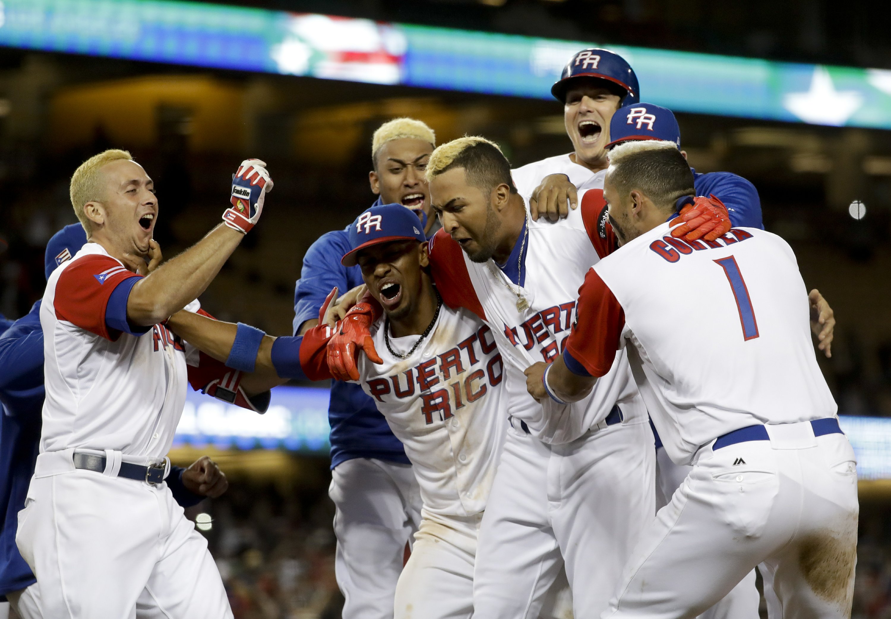
<svg viewBox="0 0 891 619"><path fill-rule="evenodd" d="M147 593L176 619L232 617L208 542L167 485L74 468L73 450L45 452L19 512L16 545L53 619L135 617Z"/></svg>

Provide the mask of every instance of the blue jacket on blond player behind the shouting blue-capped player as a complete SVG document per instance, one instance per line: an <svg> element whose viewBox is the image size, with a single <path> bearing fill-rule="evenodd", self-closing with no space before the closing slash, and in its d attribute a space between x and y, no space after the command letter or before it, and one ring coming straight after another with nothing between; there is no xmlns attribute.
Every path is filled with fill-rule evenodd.
<svg viewBox="0 0 891 619"><path fill-rule="evenodd" d="M362 270L358 266L340 264L340 258L349 249L347 229L327 232L307 249L303 271L294 291L295 335L304 322L319 317L319 309L332 288L337 286L339 294L343 294L363 283ZM328 422L331 425L331 468L354 458L410 463L387 419L362 387L331 381Z"/></svg>

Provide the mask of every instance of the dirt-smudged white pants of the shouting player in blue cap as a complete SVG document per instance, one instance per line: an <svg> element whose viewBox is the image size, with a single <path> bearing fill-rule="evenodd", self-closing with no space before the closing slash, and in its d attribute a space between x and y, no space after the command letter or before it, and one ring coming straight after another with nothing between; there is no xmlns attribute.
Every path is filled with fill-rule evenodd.
<svg viewBox="0 0 891 619"><path fill-rule="evenodd" d="M468 619L482 514L440 516L422 509L412 557L396 585L396 619Z"/></svg>

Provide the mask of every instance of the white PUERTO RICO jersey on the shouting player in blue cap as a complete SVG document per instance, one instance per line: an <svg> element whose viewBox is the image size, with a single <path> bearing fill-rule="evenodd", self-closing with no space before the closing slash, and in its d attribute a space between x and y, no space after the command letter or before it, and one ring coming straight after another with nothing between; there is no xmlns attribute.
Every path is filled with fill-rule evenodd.
<svg viewBox="0 0 891 619"><path fill-rule="evenodd" d="M325 330L324 337L307 334L303 346L312 340L323 353L331 333L316 329ZM424 509L459 517L483 511L507 430L504 368L491 330L467 310L443 304L433 330L407 359L389 352L383 318L371 332L383 364L359 355L358 382L405 445ZM388 339L396 353L407 354L419 337ZM307 376L323 377L324 354L312 355L314 366L325 367L310 368L310 355L301 351Z"/></svg>

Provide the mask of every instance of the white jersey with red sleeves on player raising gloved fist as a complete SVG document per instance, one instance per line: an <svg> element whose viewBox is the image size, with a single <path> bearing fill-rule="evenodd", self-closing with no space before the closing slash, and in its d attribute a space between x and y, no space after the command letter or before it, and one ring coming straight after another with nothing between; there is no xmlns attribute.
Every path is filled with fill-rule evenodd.
<svg viewBox="0 0 891 619"><path fill-rule="evenodd" d="M50 275L40 307L46 388L40 452L110 449L146 462L167 455L186 383L195 377L191 365L187 374L184 342L164 325L127 322L127 297L139 280L93 242ZM237 382L238 372L189 351L191 364L206 359L220 377Z"/></svg>

